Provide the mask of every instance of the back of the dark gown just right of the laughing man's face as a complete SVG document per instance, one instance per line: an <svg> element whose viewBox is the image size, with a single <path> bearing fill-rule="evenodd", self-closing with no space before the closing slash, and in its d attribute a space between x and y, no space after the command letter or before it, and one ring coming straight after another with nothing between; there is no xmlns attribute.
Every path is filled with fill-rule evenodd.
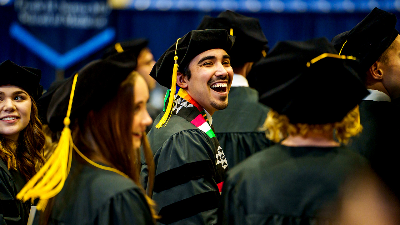
<svg viewBox="0 0 400 225"><path fill-rule="evenodd" d="M230 168L253 153L270 146L262 131L269 108L258 102L258 92L249 87L231 87L228 107L214 112L215 135Z"/></svg>

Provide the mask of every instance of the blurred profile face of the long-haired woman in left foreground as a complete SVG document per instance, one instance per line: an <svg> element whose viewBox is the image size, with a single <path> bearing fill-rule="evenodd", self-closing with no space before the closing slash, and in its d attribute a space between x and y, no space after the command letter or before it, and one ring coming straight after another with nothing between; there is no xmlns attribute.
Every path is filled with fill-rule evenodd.
<svg viewBox="0 0 400 225"><path fill-rule="evenodd" d="M153 123L147 112L147 101L149 99L149 90L146 81L142 76L136 76L134 85L134 116L133 116L133 147L139 149L142 145L142 136L145 135L146 128Z"/></svg>

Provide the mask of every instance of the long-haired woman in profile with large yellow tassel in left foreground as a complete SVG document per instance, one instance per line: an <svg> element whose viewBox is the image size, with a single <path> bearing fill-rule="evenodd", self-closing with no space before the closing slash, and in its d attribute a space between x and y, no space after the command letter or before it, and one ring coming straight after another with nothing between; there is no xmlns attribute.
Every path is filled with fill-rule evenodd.
<svg viewBox="0 0 400 225"><path fill-rule="evenodd" d="M142 143L152 161L144 133L152 123L149 93L133 67L95 60L54 91L49 121L64 121L64 130L44 169L17 196L40 199L40 224L154 223L138 169Z"/></svg>

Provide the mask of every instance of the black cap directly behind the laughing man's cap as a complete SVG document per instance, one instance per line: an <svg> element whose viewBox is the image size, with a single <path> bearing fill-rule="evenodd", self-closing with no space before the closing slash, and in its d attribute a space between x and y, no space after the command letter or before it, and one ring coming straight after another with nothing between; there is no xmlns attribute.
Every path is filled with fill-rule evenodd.
<svg viewBox="0 0 400 225"><path fill-rule="evenodd" d="M246 62L256 62L262 57L262 50L268 52L268 40L262 32L257 18L243 16L226 10L217 18L204 16L197 30L224 29L236 37L235 44L230 50L232 66L241 66ZM265 48L267 47L267 48Z"/></svg>

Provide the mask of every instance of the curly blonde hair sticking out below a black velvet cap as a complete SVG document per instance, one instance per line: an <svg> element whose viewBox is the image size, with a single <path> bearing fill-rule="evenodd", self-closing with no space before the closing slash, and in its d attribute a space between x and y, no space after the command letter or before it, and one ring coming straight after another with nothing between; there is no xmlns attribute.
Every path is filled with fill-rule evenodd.
<svg viewBox="0 0 400 225"><path fill-rule="evenodd" d="M264 129L266 137L276 143L286 139L289 135L305 137L309 131L322 133L334 129L338 141L347 144L350 137L361 133L362 125L360 123L360 110L357 105L340 122L316 125L306 123L291 124L286 115L280 115L271 109L265 120Z"/></svg>

